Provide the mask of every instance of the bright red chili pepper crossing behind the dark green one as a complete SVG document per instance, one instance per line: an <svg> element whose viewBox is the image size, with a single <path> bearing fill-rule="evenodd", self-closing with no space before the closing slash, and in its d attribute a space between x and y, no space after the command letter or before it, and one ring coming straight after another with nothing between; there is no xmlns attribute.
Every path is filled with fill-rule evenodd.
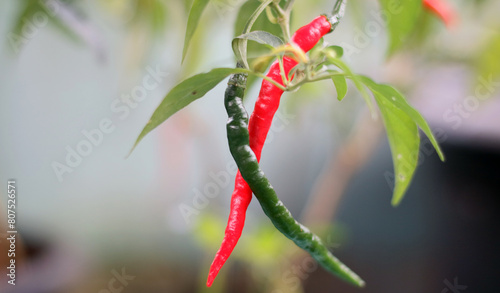
<svg viewBox="0 0 500 293"><path fill-rule="evenodd" d="M332 24L326 16L318 16L311 23L298 29L291 38L291 42L307 52L311 50L318 41L332 30ZM285 76L298 62L289 57L283 57L283 67ZM279 62L275 61L269 68L267 77L273 81L284 85L281 78ZM266 141L267 134L271 128L274 114L278 110L283 90L273 85L267 80L262 81L259 97L255 103L255 108L248 123L250 134L250 148L260 161L262 147ZM210 267L207 286L212 285L213 280L219 273L227 258L233 251L238 239L241 236L245 224L245 215L248 205L252 200L252 190L241 177L240 172L236 174L235 187L231 197L231 211L229 220L222 241L221 248L215 255L215 259Z"/></svg>

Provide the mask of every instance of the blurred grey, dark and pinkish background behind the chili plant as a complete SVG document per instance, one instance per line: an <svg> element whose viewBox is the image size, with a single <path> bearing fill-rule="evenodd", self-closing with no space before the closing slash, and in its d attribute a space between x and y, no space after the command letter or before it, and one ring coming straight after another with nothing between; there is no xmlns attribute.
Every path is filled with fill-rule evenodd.
<svg viewBox="0 0 500 293"><path fill-rule="evenodd" d="M175 114L127 157L177 82L234 66L242 5L213 0L181 64L191 1L0 3L0 262L8 266L7 181L17 188L16 286L1 292L499 292L500 2L450 0L446 28L424 14L390 58L376 1L350 0L326 41L355 72L388 82L430 122L402 204L380 118L354 87L287 93L261 166L295 217L367 282L326 273L252 202L212 288L235 165L225 83ZM333 1L296 1L292 30ZM257 86L247 91L251 111Z"/></svg>

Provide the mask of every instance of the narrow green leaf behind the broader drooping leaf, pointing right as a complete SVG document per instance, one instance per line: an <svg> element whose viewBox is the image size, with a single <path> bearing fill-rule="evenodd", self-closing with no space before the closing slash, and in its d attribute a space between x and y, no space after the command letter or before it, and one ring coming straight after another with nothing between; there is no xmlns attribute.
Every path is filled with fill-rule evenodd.
<svg viewBox="0 0 500 293"><path fill-rule="evenodd" d="M400 110L404 111L406 115L408 115L413 122L415 122L420 129L425 133L425 135L429 138L430 142L432 143L432 146L434 149L436 149L436 152L441 159L441 161L444 161L444 154L441 150L441 147L439 146L439 143L437 142L437 139L434 137L434 134L432 133L431 128L429 127L429 124L427 121L425 121L424 117L415 109L413 108L404 96L395 88L386 85L386 84L377 84L373 80L367 77L360 76L360 79L369 87L372 89L372 91L377 91L387 97L391 103L393 103L396 107L398 107Z"/></svg>

